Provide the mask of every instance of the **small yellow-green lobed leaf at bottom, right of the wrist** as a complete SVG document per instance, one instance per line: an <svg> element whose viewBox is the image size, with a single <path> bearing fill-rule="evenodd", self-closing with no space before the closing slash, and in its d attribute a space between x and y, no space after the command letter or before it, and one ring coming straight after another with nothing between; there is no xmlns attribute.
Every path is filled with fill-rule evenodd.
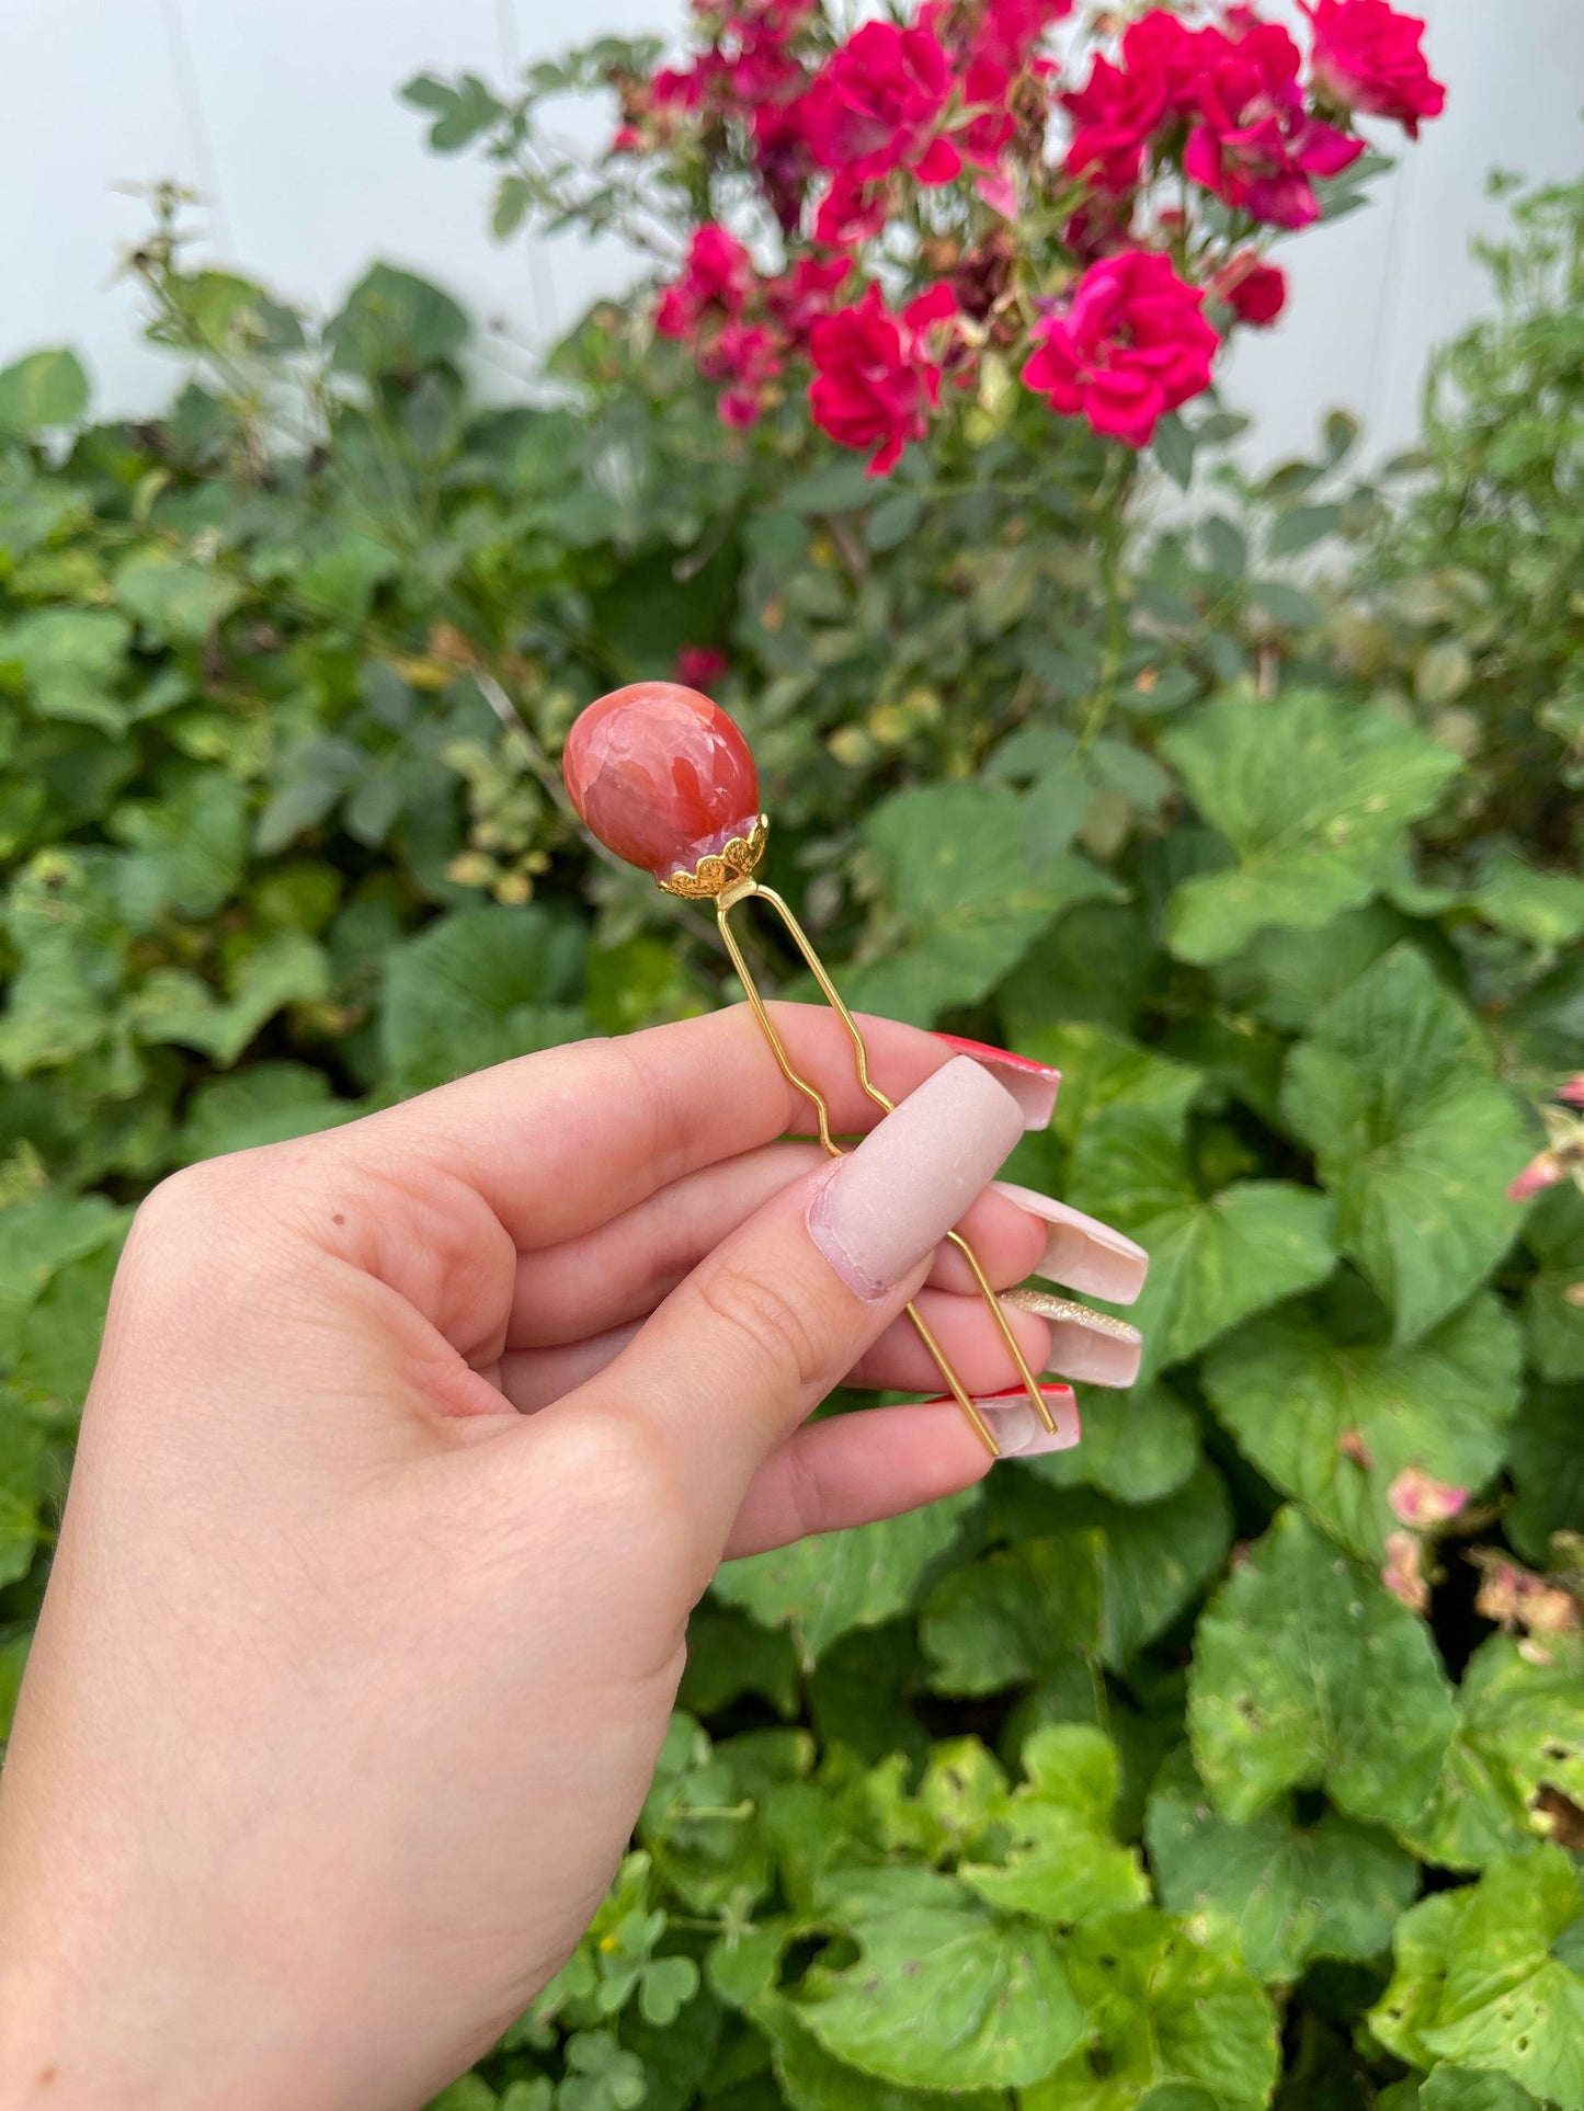
<svg viewBox="0 0 1584 2111"><path fill-rule="evenodd" d="M1071 1927L1149 1900L1138 1856L1113 1830L1117 1748L1088 1723L1048 1723L1022 1748L1029 1780L1005 1799L1012 1851L957 1875L1010 1913Z"/></svg>

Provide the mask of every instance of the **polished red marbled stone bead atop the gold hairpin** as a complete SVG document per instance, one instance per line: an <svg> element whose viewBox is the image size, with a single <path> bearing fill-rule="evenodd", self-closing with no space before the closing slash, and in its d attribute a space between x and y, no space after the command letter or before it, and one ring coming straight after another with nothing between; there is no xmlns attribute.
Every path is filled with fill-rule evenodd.
<svg viewBox="0 0 1584 2111"><path fill-rule="evenodd" d="M566 735L562 777L589 832L661 880L758 819L748 741L678 682L634 682L591 703Z"/></svg>

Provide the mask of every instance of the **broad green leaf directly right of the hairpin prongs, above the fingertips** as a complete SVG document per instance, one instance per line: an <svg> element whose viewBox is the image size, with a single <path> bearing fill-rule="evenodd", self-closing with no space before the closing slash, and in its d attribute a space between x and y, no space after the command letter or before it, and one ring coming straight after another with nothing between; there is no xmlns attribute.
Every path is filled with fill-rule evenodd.
<svg viewBox="0 0 1584 2111"><path fill-rule="evenodd" d="M883 961L843 975L862 1011L929 1026L976 1005L1075 901L1117 899L1088 859L1060 853L1031 868L1022 800L995 785L914 785L864 821L887 901L902 920Z"/></svg>

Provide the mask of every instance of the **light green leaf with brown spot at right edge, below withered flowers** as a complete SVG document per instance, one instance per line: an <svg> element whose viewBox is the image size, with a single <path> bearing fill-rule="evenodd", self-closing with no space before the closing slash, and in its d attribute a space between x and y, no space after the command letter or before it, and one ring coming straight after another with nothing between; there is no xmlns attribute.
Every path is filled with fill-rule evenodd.
<svg viewBox="0 0 1584 2111"><path fill-rule="evenodd" d="M1457 1689L1457 1731L1428 1815L1404 1834L1426 1862L1483 1868L1584 1807L1584 1636L1548 1636L1544 1661L1493 1634Z"/></svg>

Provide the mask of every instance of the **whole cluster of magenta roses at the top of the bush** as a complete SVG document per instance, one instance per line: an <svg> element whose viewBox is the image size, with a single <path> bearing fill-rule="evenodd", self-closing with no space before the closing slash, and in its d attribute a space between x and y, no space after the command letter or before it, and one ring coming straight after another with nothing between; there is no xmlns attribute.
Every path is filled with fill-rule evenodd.
<svg viewBox="0 0 1584 2111"><path fill-rule="evenodd" d="M695 0L693 57L621 84L615 154L731 198L741 230L750 177L777 230L767 268L699 215L659 296L727 424L800 384L885 475L995 361L1143 448L1229 331L1282 312L1263 245L1320 217L1318 186L1364 152L1354 114L1415 137L1445 101L1423 23L1388 0L1309 0L1307 55L1229 4L1155 6L1090 49L1069 32L1058 61L1071 11L923 0L843 40L819 0Z"/></svg>

